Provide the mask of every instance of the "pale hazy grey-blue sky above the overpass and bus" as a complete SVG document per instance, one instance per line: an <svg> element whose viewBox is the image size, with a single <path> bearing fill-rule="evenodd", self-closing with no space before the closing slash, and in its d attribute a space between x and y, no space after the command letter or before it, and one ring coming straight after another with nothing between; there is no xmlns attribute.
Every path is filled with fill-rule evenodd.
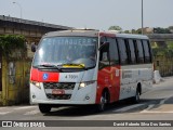
<svg viewBox="0 0 173 130"><path fill-rule="evenodd" d="M0 15L77 28L142 27L142 0L0 0ZM173 26L173 0L143 0L144 27Z"/></svg>

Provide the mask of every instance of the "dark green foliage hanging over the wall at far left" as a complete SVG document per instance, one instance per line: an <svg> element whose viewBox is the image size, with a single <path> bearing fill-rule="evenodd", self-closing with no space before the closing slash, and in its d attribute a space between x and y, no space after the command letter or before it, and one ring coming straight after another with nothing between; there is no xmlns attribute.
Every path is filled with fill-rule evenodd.
<svg viewBox="0 0 173 130"><path fill-rule="evenodd" d="M2 55L9 57L16 49L26 50L24 36L1 35L0 36L0 51Z"/></svg>

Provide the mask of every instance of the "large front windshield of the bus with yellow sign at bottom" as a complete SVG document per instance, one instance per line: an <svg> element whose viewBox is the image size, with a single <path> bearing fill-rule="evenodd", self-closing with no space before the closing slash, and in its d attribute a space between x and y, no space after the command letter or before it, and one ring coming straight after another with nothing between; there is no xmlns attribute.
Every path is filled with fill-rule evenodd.
<svg viewBox="0 0 173 130"><path fill-rule="evenodd" d="M50 37L42 39L32 66L94 67L96 64L97 38Z"/></svg>

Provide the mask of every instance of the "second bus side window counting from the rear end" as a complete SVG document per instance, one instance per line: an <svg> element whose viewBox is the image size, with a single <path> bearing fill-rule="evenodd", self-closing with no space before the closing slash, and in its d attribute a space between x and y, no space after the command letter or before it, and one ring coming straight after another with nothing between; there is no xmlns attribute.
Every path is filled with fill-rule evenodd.
<svg viewBox="0 0 173 130"><path fill-rule="evenodd" d="M143 51L143 44L141 40L135 40L135 49L136 49L136 56L137 56L137 63L144 63L144 51Z"/></svg>

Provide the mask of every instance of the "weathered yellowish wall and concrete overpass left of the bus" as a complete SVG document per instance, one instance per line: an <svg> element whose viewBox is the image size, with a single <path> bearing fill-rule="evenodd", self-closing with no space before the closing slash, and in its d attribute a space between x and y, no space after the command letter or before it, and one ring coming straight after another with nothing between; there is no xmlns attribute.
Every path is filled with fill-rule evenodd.
<svg viewBox="0 0 173 130"><path fill-rule="evenodd" d="M72 27L0 15L0 35L23 35L27 46L26 54L24 50L14 50L13 56L4 57L0 52L0 105L29 102L31 43L38 43L48 31L67 29Z"/></svg>

